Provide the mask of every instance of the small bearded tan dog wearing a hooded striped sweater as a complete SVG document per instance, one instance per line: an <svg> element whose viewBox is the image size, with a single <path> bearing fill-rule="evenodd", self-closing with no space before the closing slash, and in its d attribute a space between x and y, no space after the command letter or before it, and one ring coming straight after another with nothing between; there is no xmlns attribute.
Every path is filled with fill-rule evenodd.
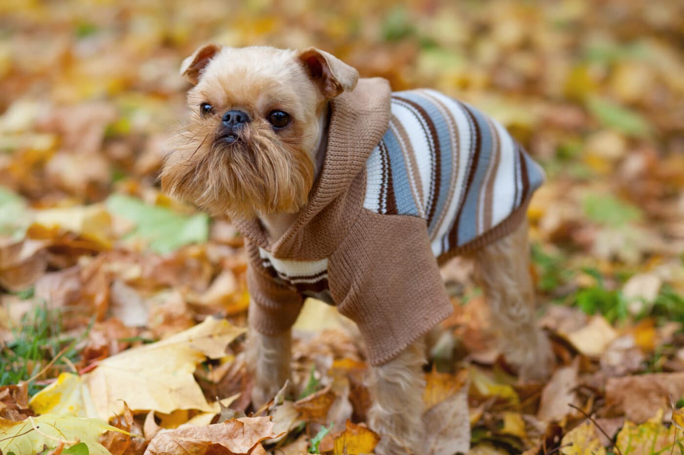
<svg viewBox="0 0 684 455"><path fill-rule="evenodd" d="M376 453L420 454L425 334L452 312L438 266L459 254L475 257L508 363L547 376L525 217L544 175L498 122L313 47L207 44L181 74L191 115L161 185L248 240L255 405L289 377L290 329L315 297L365 341Z"/></svg>

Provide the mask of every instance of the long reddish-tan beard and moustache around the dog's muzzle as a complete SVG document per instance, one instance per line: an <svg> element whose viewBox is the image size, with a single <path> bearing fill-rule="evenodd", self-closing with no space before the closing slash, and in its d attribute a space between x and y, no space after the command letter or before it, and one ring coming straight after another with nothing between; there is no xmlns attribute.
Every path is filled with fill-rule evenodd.
<svg viewBox="0 0 684 455"><path fill-rule="evenodd" d="M164 191L215 216L294 213L306 204L314 174L306 152L272 131L246 128L228 144L215 130L193 129L171 139L160 176Z"/></svg>

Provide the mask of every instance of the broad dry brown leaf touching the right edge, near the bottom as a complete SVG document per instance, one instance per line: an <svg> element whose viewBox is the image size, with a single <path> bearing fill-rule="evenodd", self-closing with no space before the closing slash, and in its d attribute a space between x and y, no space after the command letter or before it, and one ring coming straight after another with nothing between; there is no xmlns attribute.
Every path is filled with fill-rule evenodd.
<svg viewBox="0 0 684 455"><path fill-rule="evenodd" d="M606 405L637 424L667 408L668 396L683 395L684 372L609 378L605 385Z"/></svg>

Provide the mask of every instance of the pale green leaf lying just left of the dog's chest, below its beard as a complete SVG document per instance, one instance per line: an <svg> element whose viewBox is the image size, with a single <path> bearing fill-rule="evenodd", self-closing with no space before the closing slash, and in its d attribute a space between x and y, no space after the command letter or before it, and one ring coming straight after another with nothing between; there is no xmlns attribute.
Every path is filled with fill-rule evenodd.
<svg viewBox="0 0 684 455"><path fill-rule="evenodd" d="M140 199L114 194L105 202L112 215L135 224L127 240L146 240L157 253L170 253L191 243L203 243L209 237L209 217L204 213L186 216L166 207L150 206Z"/></svg>

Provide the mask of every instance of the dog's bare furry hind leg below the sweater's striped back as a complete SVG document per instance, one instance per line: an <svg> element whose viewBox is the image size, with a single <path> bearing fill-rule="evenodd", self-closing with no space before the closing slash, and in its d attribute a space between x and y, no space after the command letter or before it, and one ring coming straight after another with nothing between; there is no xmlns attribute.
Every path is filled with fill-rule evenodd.
<svg viewBox="0 0 684 455"><path fill-rule="evenodd" d="M546 378L553 359L549 340L536 324L527 228L525 220L505 238L475 252L475 275L501 332L503 355L518 368L522 381Z"/></svg>

